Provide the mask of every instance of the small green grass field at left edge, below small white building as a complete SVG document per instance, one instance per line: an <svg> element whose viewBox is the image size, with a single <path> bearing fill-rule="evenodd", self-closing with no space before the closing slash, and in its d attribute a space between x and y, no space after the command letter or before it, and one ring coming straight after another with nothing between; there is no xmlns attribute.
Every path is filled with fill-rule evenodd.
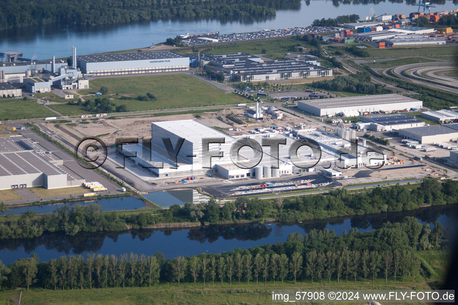
<svg viewBox="0 0 458 305"><path fill-rule="evenodd" d="M35 100L2 100L0 99L0 121L19 120L24 118L54 117L55 113Z"/></svg>

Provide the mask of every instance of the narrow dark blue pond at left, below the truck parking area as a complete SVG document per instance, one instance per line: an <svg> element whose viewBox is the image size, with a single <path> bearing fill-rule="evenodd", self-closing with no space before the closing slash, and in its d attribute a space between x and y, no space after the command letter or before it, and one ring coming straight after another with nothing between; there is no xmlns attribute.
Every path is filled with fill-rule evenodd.
<svg viewBox="0 0 458 305"><path fill-rule="evenodd" d="M102 206L104 211L118 211L118 210L134 210L144 208L146 204L135 197L116 197L116 198L104 198L98 200L87 200L87 201L75 201L69 203L49 203L39 205L29 205L24 207L10 208L9 210L0 211L0 215L6 214L21 214L27 211L35 211L37 214L46 214L54 212L58 207L68 205L71 207L75 204L87 205L97 203Z"/></svg>

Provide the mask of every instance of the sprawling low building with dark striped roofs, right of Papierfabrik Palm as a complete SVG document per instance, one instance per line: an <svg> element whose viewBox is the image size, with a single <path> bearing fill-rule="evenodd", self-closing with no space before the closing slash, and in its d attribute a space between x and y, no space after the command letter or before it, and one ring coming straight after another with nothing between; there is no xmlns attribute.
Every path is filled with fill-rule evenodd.
<svg viewBox="0 0 458 305"><path fill-rule="evenodd" d="M289 78L305 78L332 76L333 70L321 67L316 59L304 56L288 60L264 60L246 54L207 55L206 67L220 73L231 75L236 81L282 80Z"/></svg>

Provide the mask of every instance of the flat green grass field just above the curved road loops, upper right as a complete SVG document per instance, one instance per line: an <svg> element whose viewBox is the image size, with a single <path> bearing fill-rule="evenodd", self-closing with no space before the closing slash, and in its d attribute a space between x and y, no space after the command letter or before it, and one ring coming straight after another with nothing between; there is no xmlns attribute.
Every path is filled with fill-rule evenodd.
<svg viewBox="0 0 458 305"><path fill-rule="evenodd" d="M365 51L371 57L390 57L390 56L437 56L437 55L457 55L458 51L456 46L416 46L410 48L366 48ZM450 60L453 60L450 58Z"/></svg>

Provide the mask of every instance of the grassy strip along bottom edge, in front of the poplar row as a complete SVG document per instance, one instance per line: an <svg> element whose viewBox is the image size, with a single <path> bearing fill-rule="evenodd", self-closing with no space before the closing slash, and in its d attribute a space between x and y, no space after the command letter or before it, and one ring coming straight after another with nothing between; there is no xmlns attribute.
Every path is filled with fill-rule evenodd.
<svg viewBox="0 0 458 305"><path fill-rule="evenodd" d="M383 271L378 273L378 278L372 282L368 278L364 282L363 278L358 277L356 283L354 278L349 276L348 282L343 275L340 282L337 283L335 278L328 283L327 278L323 278L320 283L318 278L311 283L311 280L298 281L268 281L264 284L262 275L259 283L256 284L256 278L253 278L250 284L246 282L238 283L233 278L233 284L230 285L224 278L224 283L215 278L212 284L211 278L207 278L205 287L201 282L194 286L193 283L176 282L161 283L154 287L125 287L125 288L104 288L104 289L83 289L83 290L50 290L50 289L31 289L22 292L21 304L23 305L153 305L153 304L228 304L228 305L264 305L272 302L272 289L281 290L319 290L319 289L431 289L431 285L436 286L442 283L447 271L447 251L421 251L419 252L422 262L423 274L417 276L412 282L412 277L407 276L402 282L402 277L398 276L394 282L393 276L388 277L385 282ZM200 279L199 279L200 281ZM437 288L437 287L433 287ZM4 291L0 296L18 297L15 290ZM326 303L320 303L326 304ZM335 304L335 303L329 303ZM341 303L355 304L355 303ZM414 304L414 303L412 303ZM424 303L420 303L424 304Z"/></svg>

